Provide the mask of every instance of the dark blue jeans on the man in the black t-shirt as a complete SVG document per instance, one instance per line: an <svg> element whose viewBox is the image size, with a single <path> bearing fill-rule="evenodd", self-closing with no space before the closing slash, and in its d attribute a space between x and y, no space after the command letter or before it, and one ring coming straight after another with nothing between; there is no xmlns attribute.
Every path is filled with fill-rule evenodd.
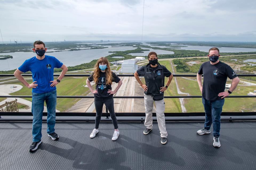
<svg viewBox="0 0 256 170"><path fill-rule="evenodd" d="M205 129L210 130L213 123L213 136L219 137L221 129L221 112L224 104L224 98L221 100L206 100L202 98L203 107L205 108Z"/></svg>

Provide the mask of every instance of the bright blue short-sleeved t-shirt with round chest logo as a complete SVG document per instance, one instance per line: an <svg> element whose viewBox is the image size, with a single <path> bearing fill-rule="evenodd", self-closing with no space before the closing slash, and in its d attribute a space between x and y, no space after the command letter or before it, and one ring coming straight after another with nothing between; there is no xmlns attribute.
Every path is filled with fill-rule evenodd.
<svg viewBox="0 0 256 170"><path fill-rule="evenodd" d="M32 92L46 93L56 89L56 87L50 86L50 81L54 80L54 68L60 68L62 65L63 63L53 56L45 56L43 60L32 57L24 61L18 69L23 73L27 71L32 72L33 81L37 81L35 84L38 84L37 88L32 88Z"/></svg>

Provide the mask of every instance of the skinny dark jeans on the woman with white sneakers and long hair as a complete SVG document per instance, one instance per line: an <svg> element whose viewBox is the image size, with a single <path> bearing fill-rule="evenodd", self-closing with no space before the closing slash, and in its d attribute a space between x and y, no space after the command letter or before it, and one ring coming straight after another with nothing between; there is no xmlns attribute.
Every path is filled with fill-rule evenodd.
<svg viewBox="0 0 256 170"><path fill-rule="evenodd" d="M114 128L117 129L118 125L117 125L117 117L115 117L113 97L110 97L110 98L94 97L94 104L95 104L95 110L96 110L95 129L99 128L99 122L101 121L103 104L106 105L106 108L108 109L108 111L110 113L110 117L112 119Z"/></svg>

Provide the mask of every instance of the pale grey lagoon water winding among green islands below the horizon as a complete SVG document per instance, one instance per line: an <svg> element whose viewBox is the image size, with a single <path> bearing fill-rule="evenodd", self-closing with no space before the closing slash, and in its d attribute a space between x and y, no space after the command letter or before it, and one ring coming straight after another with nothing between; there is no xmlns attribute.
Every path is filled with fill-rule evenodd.
<svg viewBox="0 0 256 170"><path fill-rule="evenodd" d="M79 44L110 44L110 43L127 43L127 42L138 42L138 41L112 41L112 42L92 42L92 43L79 43ZM147 43L143 43L144 45L150 45ZM192 46L187 45L188 47L182 47L179 49L186 49L186 50L200 50L208 52L211 48L210 46ZM109 54L109 51L125 51L125 50L133 50L135 49L132 46L119 46L119 47L111 47L111 45L107 45L104 49L86 49L85 47L77 47L78 49L86 49L86 50L78 50L78 51L70 51L64 50L61 52L52 52L47 53L46 55L54 56L58 58L61 62L63 62L66 66L75 66L80 65L82 63L88 63L92 60L98 59L100 57L105 57ZM166 46L158 46L158 47L166 47ZM170 47L167 47L170 48ZM150 51L144 51L143 53L131 53L132 56L147 56L147 54L151 51L156 52L157 54L174 54L172 51L165 51L165 50L154 50L152 48L143 48L149 49ZM49 49L49 51L55 51L55 49ZM229 48L229 47L222 47L220 48L221 52L256 52L255 48ZM35 56L33 52L14 52L14 53L0 53L0 55L11 55L13 58L8 58L6 60L0 60L0 70L13 70L17 69L25 60ZM254 61L249 61L254 62Z"/></svg>

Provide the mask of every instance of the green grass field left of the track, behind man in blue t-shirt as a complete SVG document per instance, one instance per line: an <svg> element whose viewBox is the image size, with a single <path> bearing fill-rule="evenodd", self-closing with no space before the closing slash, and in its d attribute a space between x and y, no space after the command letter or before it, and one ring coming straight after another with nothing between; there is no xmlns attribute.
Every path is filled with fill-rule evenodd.
<svg viewBox="0 0 256 170"><path fill-rule="evenodd" d="M87 95L90 91L86 85L87 77L65 77L61 80L61 83L57 85L58 96L83 96ZM17 92L11 93L10 95L31 95L31 89L25 87L21 82L12 82L13 84L20 84L23 88ZM28 80L28 83L32 83L32 80ZM6 83L9 84L9 83ZM26 100L32 101L32 98L25 98ZM66 109L72 107L80 98L57 98L56 109L63 112Z"/></svg>

